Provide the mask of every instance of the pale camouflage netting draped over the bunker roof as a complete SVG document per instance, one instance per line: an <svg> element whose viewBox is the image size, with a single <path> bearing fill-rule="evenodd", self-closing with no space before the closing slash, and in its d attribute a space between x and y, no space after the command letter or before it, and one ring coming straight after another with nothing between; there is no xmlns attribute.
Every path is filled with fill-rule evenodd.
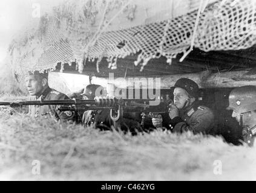
<svg viewBox="0 0 256 193"><path fill-rule="evenodd" d="M71 3L72 2L72 3ZM171 59L188 54L192 46L203 51L249 48L256 42L254 0L223 0L199 10L162 22L106 31L111 21L102 17L95 30L88 25L114 8L126 11L132 19L136 6L128 1L70 1L41 17L10 46L10 62L16 73L35 69L54 69L57 62L77 62L81 72L87 59L107 57L109 68L116 69L117 58L140 52L134 65L146 65L161 55ZM198 18L197 18L198 17Z"/></svg>

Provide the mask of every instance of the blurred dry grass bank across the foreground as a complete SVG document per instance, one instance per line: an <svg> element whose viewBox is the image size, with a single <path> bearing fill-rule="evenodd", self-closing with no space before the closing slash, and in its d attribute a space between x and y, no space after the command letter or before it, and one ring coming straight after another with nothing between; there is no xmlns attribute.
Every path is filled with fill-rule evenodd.
<svg viewBox="0 0 256 193"><path fill-rule="evenodd" d="M191 133L131 136L0 112L1 180L256 180L255 150ZM41 175L32 174L33 160Z"/></svg>

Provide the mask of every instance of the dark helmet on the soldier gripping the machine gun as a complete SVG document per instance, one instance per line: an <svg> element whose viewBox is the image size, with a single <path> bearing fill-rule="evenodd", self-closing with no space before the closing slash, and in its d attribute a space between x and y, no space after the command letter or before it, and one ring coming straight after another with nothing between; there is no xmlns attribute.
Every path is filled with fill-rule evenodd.
<svg viewBox="0 0 256 193"><path fill-rule="evenodd" d="M189 78L180 78L179 80L177 80L176 83L174 84L174 87L171 87L172 91L176 87L185 89L186 92L188 92L188 94L190 96L193 96L195 99L197 99L199 96L199 86L197 85L197 83L195 83Z"/></svg>

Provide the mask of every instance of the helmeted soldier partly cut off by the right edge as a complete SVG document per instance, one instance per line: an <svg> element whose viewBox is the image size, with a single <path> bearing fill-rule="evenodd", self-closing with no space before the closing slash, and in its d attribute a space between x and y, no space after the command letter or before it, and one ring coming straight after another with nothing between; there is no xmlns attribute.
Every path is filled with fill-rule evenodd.
<svg viewBox="0 0 256 193"><path fill-rule="evenodd" d="M229 94L228 110L233 110L232 117L243 126L243 140L254 144L256 134L256 86L241 86Z"/></svg>

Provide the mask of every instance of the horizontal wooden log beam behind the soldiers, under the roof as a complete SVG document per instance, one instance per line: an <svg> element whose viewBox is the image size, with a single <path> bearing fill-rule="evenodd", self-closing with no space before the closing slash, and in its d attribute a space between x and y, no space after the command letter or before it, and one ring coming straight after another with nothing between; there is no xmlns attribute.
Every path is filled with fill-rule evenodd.
<svg viewBox="0 0 256 193"><path fill-rule="evenodd" d="M134 82L142 84L140 88L154 89L157 83L160 82L161 89L169 89L174 86L179 78L190 78L199 84L200 88L224 88L224 87L239 87L245 85L256 86L256 74L250 73L253 69L245 69L242 71L217 72L203 71L200 73L191 74L176 74L163 75L155 77L126 77L114 78L114 74L110 74L109 78L93 77L92 83L101 84L104 87L113 84L119 88L134 87ZM137 87L136 87L137 88Z"/></svg>

